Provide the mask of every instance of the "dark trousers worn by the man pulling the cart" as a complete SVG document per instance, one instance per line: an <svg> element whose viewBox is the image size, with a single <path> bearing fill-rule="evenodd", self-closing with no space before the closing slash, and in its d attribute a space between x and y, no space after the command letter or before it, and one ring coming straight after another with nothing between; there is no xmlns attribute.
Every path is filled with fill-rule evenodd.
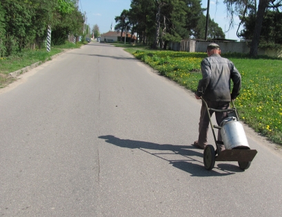
<svg viewBox="0 0 282 217"><path fill-rule="evenodd" d="M212 101L206 101L208 107L216 109L216 110L226 110L230 106L230 102L212 102ZM205 106L205 103L202 102L201 107L201 116L200 116L200 122L199 122L199 139L198 143L201 145L201 147L205 147L205 145L208 145L208 128L210 125L210 119L208 117L208 112L210 112L210 116L214 113L213 111L210 111ZM215 118L217 125L220 125L221 122L228 117L227 112L215 112ZM221 131L218 130L217 134L217 141L222 141L221 138ZM220 149L224 149L224 145L219 145Z"/></svg>

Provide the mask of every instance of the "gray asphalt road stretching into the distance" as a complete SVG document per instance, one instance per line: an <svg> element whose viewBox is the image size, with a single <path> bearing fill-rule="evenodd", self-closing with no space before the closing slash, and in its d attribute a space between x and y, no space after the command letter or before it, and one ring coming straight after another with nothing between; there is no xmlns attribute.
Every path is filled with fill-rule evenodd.
<svg viewBox="0 0 282 217"><path fill-rule="evenodd" d="M281 216L281 152L246 129L250 168L205 170L200 106L103 43L23 74L0 90L0 216Z"/></svg>

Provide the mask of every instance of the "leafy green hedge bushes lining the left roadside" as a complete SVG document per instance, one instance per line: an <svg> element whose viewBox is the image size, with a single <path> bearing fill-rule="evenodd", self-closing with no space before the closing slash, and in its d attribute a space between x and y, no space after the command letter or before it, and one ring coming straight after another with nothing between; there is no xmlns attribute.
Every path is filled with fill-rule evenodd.
<svg viewBox="0 0 282 217"><path fill-rule="evenodd" d="M68 34L79 32L81 29L82 15L75 8L73 0L0 2L1 56L17 54L26 48L43 47L48 25L57 31L52 35L54 42L64 41ZM1 19L3 14L5 19Z"/></svg>

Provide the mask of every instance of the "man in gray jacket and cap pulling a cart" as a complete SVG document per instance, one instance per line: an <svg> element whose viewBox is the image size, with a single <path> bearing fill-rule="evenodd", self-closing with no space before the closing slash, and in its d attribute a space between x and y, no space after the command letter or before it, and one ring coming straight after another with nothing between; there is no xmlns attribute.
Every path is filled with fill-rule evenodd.
<svg viewBox="0 0 282 217"><path fill-rule="evenodd" d="M196 99L201 97L208 104L208 107L217 110L225 110L230 106L230 101L235 100L241 89L241 75L235 68L234 64L221 57L221 50L216 43L210 43L207 47L208 57L201 62L201 72L203 78L199 81ZM232 92L230 94L230 80L233 82ZM213 112L208 111L202 102L201 116L199 122L199 138L194 141L194 146L204 149L208 145L208 127L210 120L208 112L212 116ZM218 125L228 117L227 112L215 112L216 123ZM217 141L220 147L219 151L224 148L221 132L219 130Z"/></svg>

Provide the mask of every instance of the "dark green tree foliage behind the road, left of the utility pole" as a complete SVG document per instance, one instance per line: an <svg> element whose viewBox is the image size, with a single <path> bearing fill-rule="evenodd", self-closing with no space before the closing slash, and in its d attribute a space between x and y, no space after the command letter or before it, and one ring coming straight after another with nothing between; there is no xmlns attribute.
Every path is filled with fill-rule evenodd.
<svg viewBox="0 0 282 217"><path fill-rule="evenodd" d="M121 16L116 17L118 24L115 30L123 32L124 26L130 25L131 31L137 32L139 43L165 50L169 41L189 39L195 35L203 39L201 32L205 30L205 9L201 8L201 1L132 0L130 7L130 10L123 10ZM125 21L122 22L122 19ZM210 23L210 38L224 38L219 25L214 21Z"/></svg>

